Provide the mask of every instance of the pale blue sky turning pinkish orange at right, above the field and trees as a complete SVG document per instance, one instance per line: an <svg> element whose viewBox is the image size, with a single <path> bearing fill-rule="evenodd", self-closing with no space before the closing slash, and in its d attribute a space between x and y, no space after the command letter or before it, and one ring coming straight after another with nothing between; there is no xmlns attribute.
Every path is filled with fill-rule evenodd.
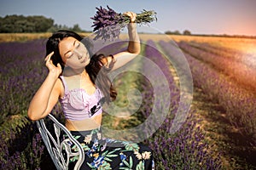
<svg viewBox="0 0 256 170"><path fill-rule="evenodd" d="M79 24L82 30L92 31L90 17L96 7L107 5L119 13L154 10L157 22L139 31L256 36L255 0L0 0L0 16L44 15L55 24Z"/></svg>

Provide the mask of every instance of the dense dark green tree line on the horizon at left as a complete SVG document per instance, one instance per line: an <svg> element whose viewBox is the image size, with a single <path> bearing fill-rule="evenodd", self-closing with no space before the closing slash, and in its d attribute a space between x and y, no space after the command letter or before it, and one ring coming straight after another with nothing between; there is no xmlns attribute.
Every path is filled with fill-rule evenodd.
<svg viewBox="0 0 256 170"><path fill-rule="evenodd" d="M55 21L42 15L6 15L0 17L0 33L54 32L57 30L83 31L78 24L73 27L55 24Z"/></svg>

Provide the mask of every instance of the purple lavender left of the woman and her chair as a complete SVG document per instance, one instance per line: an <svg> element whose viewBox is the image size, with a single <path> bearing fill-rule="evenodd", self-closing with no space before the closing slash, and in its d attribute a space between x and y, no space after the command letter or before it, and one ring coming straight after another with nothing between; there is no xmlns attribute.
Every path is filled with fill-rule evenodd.
<svg viewBox="0 0 256 170"><path fill-rule="evenodd" d="M26 111L47 74L45 41L5 42L0 47L0 168L38 169L47 150Z"/></svg>

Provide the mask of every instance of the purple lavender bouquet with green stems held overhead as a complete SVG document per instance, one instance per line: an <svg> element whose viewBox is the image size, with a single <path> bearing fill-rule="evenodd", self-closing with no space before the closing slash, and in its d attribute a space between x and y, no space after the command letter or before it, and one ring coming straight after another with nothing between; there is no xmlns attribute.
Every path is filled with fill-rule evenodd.
<svg viewBox="0 0 256 170"><path fill-rule="evenodd" d="M96 14L91 17L93 21L93 31L96 33L94 40L102 38L102 40L113 40L118 38L121 30L130 23L130 17L125 14L117 13L113 8L96 8ZM153 10L143 10L142 13L137 14L135 22L140 25L147 25L148 23L157 20L156 13Z"/></svg>

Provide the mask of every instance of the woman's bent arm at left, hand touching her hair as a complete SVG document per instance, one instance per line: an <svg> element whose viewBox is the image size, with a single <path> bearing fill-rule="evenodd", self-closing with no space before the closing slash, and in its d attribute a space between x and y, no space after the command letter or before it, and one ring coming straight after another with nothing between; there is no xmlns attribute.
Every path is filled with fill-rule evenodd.
<svg viewBox="0 0 256 170"><path fill-rule="evenodd" d="M50 59L53 54L52 52L45 58L45 65L49 69L49 74L33 96L27 111L27 116L32 121L37 121L47 116L61 95L61 80L58 78L61 74L61 65L53 65Z"/></svg>

